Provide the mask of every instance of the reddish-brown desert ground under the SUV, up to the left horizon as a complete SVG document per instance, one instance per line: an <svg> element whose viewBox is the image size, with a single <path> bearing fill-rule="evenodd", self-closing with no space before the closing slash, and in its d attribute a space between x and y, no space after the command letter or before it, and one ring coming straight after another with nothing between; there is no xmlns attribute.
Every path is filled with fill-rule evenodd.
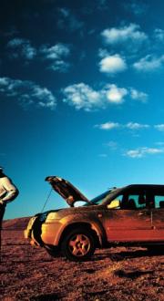
<svg viewBox="0 0 164 301"><path fill-rule="evenodd" d="M97 250L88 262L68 262L28 244L28 219L3 223L0 300L164 300L162 252L116 247Z"/></svg>

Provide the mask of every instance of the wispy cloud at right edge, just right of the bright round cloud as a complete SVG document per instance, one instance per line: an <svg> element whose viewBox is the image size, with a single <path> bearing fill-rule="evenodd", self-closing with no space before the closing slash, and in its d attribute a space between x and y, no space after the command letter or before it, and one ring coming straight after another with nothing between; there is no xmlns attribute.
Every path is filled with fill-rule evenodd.
<svg viewBox="0 0 164 301"><path fill-rule="evenodd" d="M133 64L133 67L138 71L154 71L158 70L160 67L163 67L164 64L164 56L154 57L148 55L146 57L142 57L138 60L138 62Z"/></svg>

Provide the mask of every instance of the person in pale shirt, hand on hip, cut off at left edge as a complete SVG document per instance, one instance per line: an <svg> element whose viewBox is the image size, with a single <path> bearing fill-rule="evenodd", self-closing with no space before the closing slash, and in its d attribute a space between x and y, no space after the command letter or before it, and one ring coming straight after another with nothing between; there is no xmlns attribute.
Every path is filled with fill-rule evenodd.
<svg viewBox="0 0 164 301"><path fill-rule="evenodd" d="M3 168L0 167L0 228L2 225L5 206L8 202L15 200L18 195L18 189L13 182L5 175Z"/></svg>

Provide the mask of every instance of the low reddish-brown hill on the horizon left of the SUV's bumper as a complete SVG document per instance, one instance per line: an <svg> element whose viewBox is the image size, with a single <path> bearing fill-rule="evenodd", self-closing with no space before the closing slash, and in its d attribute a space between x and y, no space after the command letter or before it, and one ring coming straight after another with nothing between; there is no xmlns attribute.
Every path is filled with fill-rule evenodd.
<svg viewBox="0 0 164 301"><path fill-rule="evenodd" d="M25 230L30 217L20 217L13 220L3 221L3 229L5 230Z"/></svg>

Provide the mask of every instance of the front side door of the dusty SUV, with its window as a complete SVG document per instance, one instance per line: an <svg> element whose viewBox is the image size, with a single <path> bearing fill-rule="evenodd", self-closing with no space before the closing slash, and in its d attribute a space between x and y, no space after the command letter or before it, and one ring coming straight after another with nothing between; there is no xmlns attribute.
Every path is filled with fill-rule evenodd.
<svg viewBox="0 0 164 301"><path fill-rule="evenodd" d="M106 209L108 242L143 242L151 237L151 214L146 206L146 191L130 190L118 195L118 209Z"/></svg>

